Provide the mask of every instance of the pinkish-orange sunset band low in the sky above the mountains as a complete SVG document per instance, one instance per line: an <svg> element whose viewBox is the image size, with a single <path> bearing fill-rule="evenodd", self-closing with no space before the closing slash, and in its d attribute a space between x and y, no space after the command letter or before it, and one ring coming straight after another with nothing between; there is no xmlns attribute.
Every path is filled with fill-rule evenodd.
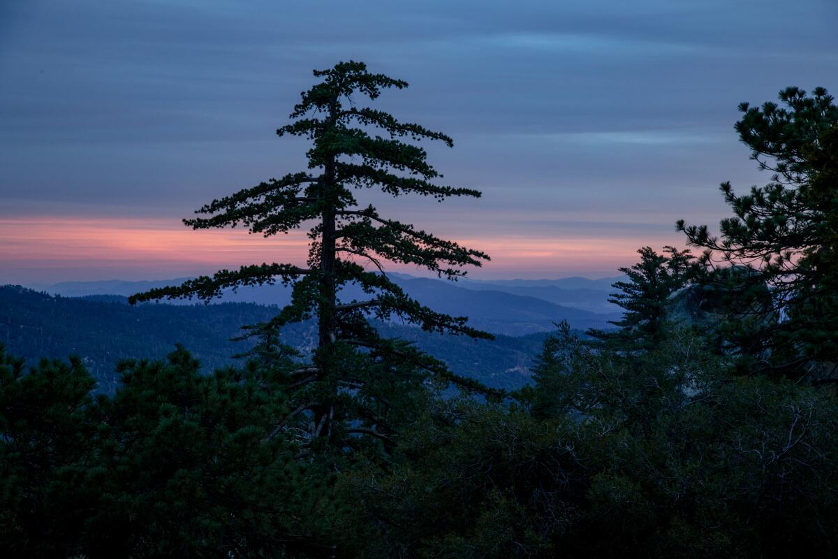
<svg viewBox="0 0 838 559"><path fill-rule="evenodd" d="M196 269L212 271L263 261L302 265L308 247L306 232L301 230L266 239L244 229L195 231L176 220L136 218L0 218L0 238L0 270L106 267L137 271L147 266L148 272L191 275ZM485 236L456 241L492 258L479 271L470 268L473 277L518 277L518 272L541 272L545 277L592 270L616 274L618 267L636 260L639 246L649 244L624 236ZM411 267L390 268L411 272Z"/></svg>

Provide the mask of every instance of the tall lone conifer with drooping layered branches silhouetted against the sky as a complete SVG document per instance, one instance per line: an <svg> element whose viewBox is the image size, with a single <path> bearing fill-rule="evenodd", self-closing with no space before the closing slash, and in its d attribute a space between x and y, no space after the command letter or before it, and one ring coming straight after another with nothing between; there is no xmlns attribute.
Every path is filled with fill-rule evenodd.
<svg viewBox="0 0 838 559"><path fill-rule="evenodd" d="M354 61L315 70L314 75L322 80L303 91L290 115L292 122L277 130L279 136L311 141L308 169L215 199L197 210L199 217L184 220L195 230L244 225L266 237L310 223L308 266L262 263L221 270L178 287L137 294L131 302L192 297L209 301L226 288L291 284L292 303L268 323L249 327L249 334L275 342L277 330L287 323L317 319L313 363L287 375L293 414L306 418L311 440L342 448L357 443L358 437L348 435L360 433L389 444L393 427L382 409L395 413L406 407L394 398L419 390L429 376L475 385L449 374L409 344L381 338L368 318L491 336L468 327L465 317L436 313L410 298L385 275L384 263L415 265L456 279L465 274L461 267L480 266L489 256L380 215L372 205L360 204L356 193L377 188L394 197L419 194L438 201L480 193L436 184L442 175L427 163L426 151L403 141L436 140L453 147L450 137L356 105L361 96L372 101L385 89L401 90L405 81L372 74ZM345 300L340 290L348 284L359 286L369 298Z"/></svg>

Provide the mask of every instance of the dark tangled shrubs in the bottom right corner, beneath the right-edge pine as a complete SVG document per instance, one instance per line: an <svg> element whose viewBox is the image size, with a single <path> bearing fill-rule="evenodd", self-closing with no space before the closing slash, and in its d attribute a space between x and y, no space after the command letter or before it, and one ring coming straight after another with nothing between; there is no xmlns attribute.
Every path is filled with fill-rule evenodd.
<svg viewBox="0 0 838 559"><path fill-rule="evenodd" d="M830 554L831 396L730 377L678 331L648 355L572 338L563 350L536 391L579 419L577 453L593 473L583 526L603 555Z"/></svg>

